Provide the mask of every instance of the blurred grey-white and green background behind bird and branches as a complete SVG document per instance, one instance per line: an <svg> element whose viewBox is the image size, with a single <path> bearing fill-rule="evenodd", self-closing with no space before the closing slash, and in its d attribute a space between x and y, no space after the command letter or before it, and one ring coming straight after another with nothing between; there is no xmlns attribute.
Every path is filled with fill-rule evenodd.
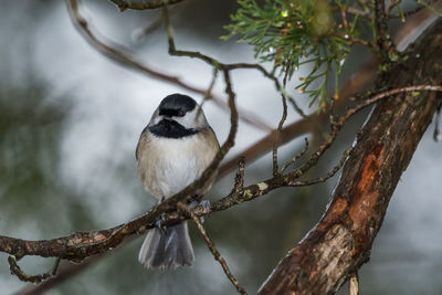
<svg viewBox="0 0 442 295"><path fill-rule="evenodd" d="M198 50L224 62L253 62L246 44L219 39L227 32L235 1L187 0L172 13L178 49ZM84 1L82 13L101 36L124 44L146 64L208 87L212 71L204 63L170 57L160 11L119 12L109 1ZM149 28L148 35L143 31ZM356 48L345 81L367 59ZM270 64L266 65L269 69ZM297 76L292 80L293 87ZM238 105L271 128L282 114L273 84L254 71L233 72ZM293 88L292 87L292 88ZM75 231L126 222L154 199L136 175L138 136L162 97L180 92L109 61L74 29L64 1L3 0L0 10L0 234L28 240L52 239ZM214 94L223 97L218 81ZM307 113L308 98L292 93ZM206 115L222 143L229 113L204 104ZM333 149L312 171L324 176L351 145L369 110L352 118ZM287 124L298 119L290 109ZM403 173L377 240L371 260L360 271L361 294L442 294L442 146L431 125ZM236 146L228 159L265 136L265 128L240 123ZM312 139L312 138L311 138ZM281 148L281 162L303 147L299 137ZM245 182L272 175L271 154L246 162ZM227 196L233 172L208 193ZM209 235L233 274L256 293L276 263L318 221L337 177L308 188L280 189L252 202L209 217ZM234 294L198 231L190 225L196 251L191 268L148 272L137 256L144 238L135 239L93 263L48 294ZM9 272L0 253L0 294L27 286ZM52 259L25 257L28 273L43 273ZM347 294L346 287L340 294Z"/></svg>

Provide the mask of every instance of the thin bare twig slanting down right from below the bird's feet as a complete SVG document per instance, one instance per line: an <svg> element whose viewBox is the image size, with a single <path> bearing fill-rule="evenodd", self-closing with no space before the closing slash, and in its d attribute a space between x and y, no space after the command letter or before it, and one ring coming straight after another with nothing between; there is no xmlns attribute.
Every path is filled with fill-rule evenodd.
<svg viewBox="0 0 442 295"><path fill-rule="evenodd" d="M230 268L228 266L228 263L225 262L224 257L221 255L220 251L218 251L218 249L214 245L214 243L212 242L212 240L210 240L210 238L207 234L204 226L202 226L199 218L192 212L192 210L189 209L189 207L187 207L183 203L178 203L178 208L181 209L182 211L187 212L190 215L190 218L193 220L193 222L197 225L198 230L200 231L202 238L204 239L204 242L207 243L210 252L212 252L213 257L215 259L215 261L218 261L221 264L222 270L224 271L224 273L228 276L228 278L230 280L230 282L232 282L232 284L236 288L236 291L240 294L244 294L244 295L248 294L245 292L245 289L240 285L238 280L233 276L232 272L230 271Z"/></svg>

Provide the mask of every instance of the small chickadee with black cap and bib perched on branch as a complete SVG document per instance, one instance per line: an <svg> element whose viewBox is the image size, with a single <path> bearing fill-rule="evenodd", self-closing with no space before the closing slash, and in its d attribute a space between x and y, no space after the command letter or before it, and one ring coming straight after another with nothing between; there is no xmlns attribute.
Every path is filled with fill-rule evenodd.
<svg viewBox="0 0 442 295"><path fill-rule="evenodd" d="M220 145L201 106L190 96L166 96L144 128L136 148L138 176L159 202L194 180L212 162ZM210 189L215 173L196 191L197 200ZM193 264L187 221L150 229L138 255L148 270L175 270Z"/></svg>

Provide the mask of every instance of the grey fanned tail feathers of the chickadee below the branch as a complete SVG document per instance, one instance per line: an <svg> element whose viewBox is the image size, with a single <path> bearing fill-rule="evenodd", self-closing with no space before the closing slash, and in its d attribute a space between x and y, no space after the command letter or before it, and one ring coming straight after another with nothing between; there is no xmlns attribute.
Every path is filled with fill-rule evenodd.
<svg viewBox="0 0 442 295"><path fill-rule="evenodd" d="M187 221L165 229L149 230L138 260L146 268L161 271L192 265L193 249Z"/></svg>

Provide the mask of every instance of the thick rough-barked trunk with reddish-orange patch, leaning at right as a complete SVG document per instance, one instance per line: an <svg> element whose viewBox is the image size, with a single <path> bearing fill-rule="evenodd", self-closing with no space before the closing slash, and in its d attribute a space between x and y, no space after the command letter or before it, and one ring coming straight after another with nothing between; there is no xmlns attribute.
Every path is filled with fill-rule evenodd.
<svg viewBox="0 0 442 295"><path fill-rule="evenodd" d="M380 84L441 85L440 22L408 57ZM375 107L357 135L325 214L280 262L260 294L333 294L369 260L390 198L441 98L440 93L407 93Z"/></svg>

